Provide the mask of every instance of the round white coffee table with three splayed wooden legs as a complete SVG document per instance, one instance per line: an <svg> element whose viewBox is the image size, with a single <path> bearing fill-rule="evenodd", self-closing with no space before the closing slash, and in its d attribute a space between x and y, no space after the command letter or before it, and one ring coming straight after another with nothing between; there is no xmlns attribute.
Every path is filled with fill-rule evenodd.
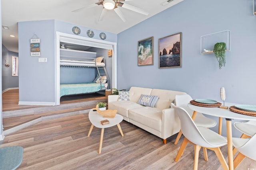
<svg viewBox="0 0 256 170"><path fill-rule="evenodd" d="M124 136L123 132L122 132L122 129L121 129L121 126L120 126L120 122L123 120L123 117L121 115L118 115L116 114L116 116L114 118L104 118L102 115L100 115L97 111L93 111L93 109L91 109L89 111L89 120L90 122L92 123L91 127L90 127L90 130L89 130L89 133L88 133L88 137L90 136L91 132L92 132L92 128L94 126L98 127L98 128L101 128L101 133L100 133L100 147L99 147L99 154L101 153L101 148L102 148L102 141L103 141L103 134L104 134L104 129L107 128L107 127L112 127L114 125L117 125L120 133L122 136ZM106 120L108 119L109 121L109 124L106 124L106 125L102 125L100 123L100 121L102 120Z"/></svg>

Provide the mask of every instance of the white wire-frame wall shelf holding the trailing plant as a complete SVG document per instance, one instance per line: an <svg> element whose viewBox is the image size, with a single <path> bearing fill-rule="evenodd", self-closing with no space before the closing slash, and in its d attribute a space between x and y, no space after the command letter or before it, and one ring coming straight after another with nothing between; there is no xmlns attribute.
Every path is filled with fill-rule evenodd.
<svg viewBox="0 0 256 170"><path fill-rule="evenodd" d="M226 51L230 51L230 30L224 30L201 36L201 54L214 53L213 48L216 43L226 43ZM207 51L204 51L204 50Z"/></svg>

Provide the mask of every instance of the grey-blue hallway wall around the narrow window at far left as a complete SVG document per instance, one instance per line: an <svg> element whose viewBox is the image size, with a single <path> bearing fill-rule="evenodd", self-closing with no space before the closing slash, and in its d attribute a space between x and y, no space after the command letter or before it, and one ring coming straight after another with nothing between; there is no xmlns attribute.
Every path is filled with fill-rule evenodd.
<svg viewBox="0 0 256 170"><path fill-rule="evenodd" d="M12 56L19 57L18 53L8 51L8 49L2 45L2 91L8 88L19 87L19 77L12 76ZM9 67L4 66L6 60L8 64L10 64Z"/></svg>

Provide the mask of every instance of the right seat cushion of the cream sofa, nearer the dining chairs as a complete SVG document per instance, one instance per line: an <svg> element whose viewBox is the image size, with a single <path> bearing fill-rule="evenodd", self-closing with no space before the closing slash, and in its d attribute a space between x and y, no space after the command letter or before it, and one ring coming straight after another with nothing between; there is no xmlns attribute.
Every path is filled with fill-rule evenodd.
<svg viewBox="0 0 256 170"><path fill-rule="evenodd" d="M137 121L143 125L151 127L161 132L162 129L162 109L156 107L143 106L128 111L129 119Z"/></svg>

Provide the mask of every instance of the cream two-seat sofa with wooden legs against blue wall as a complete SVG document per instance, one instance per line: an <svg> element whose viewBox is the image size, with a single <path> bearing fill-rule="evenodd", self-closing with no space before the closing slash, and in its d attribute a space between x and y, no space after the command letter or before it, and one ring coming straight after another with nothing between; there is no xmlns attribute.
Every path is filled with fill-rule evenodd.
<svg viewBox="0 0 256 170"><path fill-rule="evenodd" d="M129 101L119 100L119 95L109 95L108 109L117 109L125 121L164 139L164 144L168 137L180 131L180 119L174 113L174 108L169 107L176 95L185 92L131 87L128 93ZM142 94L159 96L154 107L137 104Z"/></svg>

